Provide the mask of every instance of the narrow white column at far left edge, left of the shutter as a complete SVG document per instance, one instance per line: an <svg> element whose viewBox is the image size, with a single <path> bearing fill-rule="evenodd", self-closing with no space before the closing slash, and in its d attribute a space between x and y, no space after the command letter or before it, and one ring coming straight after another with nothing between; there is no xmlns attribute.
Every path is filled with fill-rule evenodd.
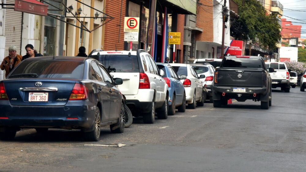
<svg viewBox="0 0 306 172"><path fill-rule="evenodd" d="M5 3L5 1L3 2ZM0 63L2 63L5 54L5 36L4 36L4 9L0 5ZM0 70L0 80L4 79L4 71Z"/></svg>

